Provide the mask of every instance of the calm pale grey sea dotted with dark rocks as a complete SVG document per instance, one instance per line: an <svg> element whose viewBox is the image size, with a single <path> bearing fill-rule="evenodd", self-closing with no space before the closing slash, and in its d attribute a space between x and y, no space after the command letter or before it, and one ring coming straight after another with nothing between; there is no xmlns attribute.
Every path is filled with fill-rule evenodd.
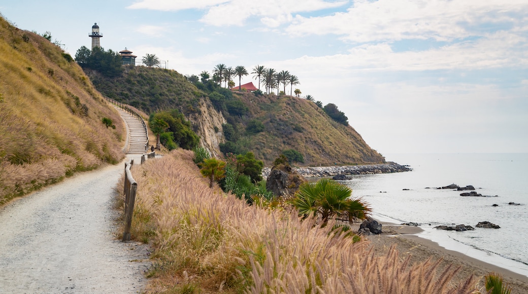
<svg viewBox="0 0 528 294"><path fill-rule="evenodd" d="M528 277L528 153L386 154L385 159L412 171L345 181L353 197L371 205L375 219L416 222L424 230L419 237ZM436 189L449 184L473 185L485 197ZM481 221L501 228L476 228ZM475 230L434 229L453 224Z"/></svg>

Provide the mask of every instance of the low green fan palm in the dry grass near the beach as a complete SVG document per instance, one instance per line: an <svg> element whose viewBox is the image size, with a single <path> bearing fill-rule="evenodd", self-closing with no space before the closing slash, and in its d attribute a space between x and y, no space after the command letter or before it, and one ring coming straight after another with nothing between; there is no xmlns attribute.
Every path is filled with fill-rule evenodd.
<svg viewBox="0 0 528 294"><path fill-rule="evenodd" d="M299 210L299 216L320 215L325 227L333 217L347 218L350 223L355 219L366 219L370 214L369 205L360 199L350 199L352 189L331 179L320 179L317 182L306 182L299 186L294 197L289 201Z"/></svg>

